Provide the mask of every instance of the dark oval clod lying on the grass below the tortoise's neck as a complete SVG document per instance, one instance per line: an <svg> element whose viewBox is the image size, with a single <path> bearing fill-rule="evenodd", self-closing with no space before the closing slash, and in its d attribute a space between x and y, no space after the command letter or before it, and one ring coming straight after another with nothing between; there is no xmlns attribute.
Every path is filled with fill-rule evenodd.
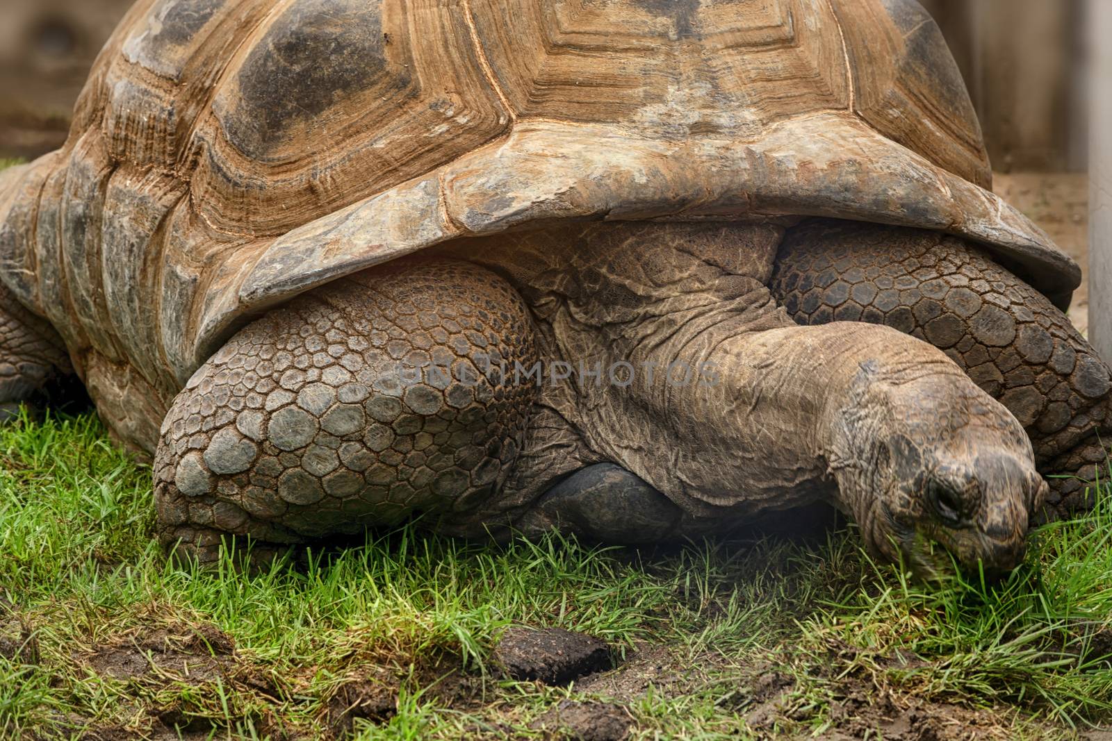
<svg viewBox="0 0 1112 741"><path fill-rule="evenodd" d="M518 681L566 684L610 668L610 652L597 638L562 628L510 628L495 649L495 661Z"/></svg>

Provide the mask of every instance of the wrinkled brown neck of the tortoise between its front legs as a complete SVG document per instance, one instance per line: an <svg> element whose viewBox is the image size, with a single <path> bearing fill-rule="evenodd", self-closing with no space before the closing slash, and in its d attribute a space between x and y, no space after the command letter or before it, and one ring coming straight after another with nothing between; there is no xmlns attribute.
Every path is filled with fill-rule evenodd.
<svg viewBox="0 0 1112 741"><path fill-rule="evenodd" d="M855 337L827 341L830 330L796 327L776 307L766 281L780 236L767 226L596 224L471 253L508 274L533 310L547 363L542 403L598 458L715 517L833 490L824 414L852 374Z"/></svg>

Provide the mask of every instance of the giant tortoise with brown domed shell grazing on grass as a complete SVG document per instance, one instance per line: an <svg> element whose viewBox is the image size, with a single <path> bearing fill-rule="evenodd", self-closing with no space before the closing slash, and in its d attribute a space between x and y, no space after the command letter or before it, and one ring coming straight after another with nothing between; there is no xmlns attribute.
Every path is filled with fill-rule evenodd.
<svg viewBox="0 0 1112 741"><path fill-rule="evenodd" d="M1112 419L991 177L913 0L141 0L0 176L0 401L76 374L201 561L825 500L1004 570Z"/></svg>

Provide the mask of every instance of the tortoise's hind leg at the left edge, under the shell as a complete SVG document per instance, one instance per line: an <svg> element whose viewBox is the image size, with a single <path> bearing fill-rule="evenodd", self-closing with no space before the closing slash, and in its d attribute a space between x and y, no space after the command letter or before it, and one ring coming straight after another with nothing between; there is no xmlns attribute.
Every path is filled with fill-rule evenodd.
<svg viewBox="0 0 1112 741"><path fill-rule="evenodd" d="M71 380L76 384L58 332L0 283L0 421L18 415L20 404L57 401Z"/></svg>

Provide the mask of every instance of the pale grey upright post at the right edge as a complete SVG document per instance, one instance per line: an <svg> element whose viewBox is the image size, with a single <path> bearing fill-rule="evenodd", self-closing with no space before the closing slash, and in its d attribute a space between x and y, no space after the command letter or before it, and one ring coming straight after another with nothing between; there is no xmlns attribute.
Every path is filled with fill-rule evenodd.
<svg viewBox="0 0 1112 741"><path fill-rule="evenodd" d="M1112 363L1112 2L1089 0L1089 341Z"/></svg>

